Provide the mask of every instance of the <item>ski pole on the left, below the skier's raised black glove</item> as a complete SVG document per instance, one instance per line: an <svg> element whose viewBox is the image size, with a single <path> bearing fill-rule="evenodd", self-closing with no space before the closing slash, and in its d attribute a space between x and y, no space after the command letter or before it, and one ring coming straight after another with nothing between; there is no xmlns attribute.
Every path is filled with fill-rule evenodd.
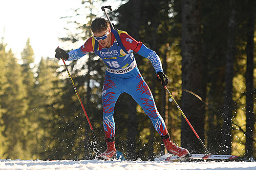
<svg viewBox="0 0 256 170"><path fill-rule="evenodd" d="M59 50L59 52L61 53L59 47L58 47L58 50ZM91 128L92 134L93 134L93 136L94 136L94 138L95 138L95 140L96 140L96 142L97 142L97 144L98 144L98 147L99 147L99 149L100 149L100 152L102 153L101 145L100 145L100 143L99 143L99 141L98 141L98 139L97 139L97 137L96 137L96 135L95 135L95 133L94 133L94 131L93 131L91 122L90 122L90 120L89 120L89 118L88 118L88 116L87 116L87 114L86 114L85 107L84 107L84 105L83 105L83 103L82 103L82 101L81 101L81 99L80 99L80 96L79 96L79 94L78 94L78 92L77 92L76 86L75 86L75 84L74 84L74 82L73 82L73 79L71 78L71 75L70 75L70 73L69 73L69 71L68 71L68 68L67 68L66 63L65 63L65 61L64 61L63 58L62 58L62 61L63 61L63 63L64 63L64 66L65 66L65 68L66 68L67 74L68 74L68 76L69 76L69 80L70 80L71 84L73 85L73 88L74 88L74 90L75 90L75 92L76 92L77 98L78 98L78 100L79 100L79 102L80 102L80 104L81 104L81 106L82 106L82 108L83 108L83 111L84 111L84 113L85 113L85 117L86 117L86 119L87 119L87 121L88 121L88 123L89 123L89 126L90 126L90 128Z"/></svg>

